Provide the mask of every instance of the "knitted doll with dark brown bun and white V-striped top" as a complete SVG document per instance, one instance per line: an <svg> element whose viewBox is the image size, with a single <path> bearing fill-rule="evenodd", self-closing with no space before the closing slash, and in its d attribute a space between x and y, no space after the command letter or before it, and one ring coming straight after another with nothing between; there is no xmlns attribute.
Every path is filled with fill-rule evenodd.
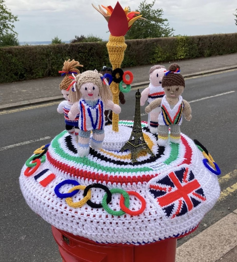
<svg viewBox="0 0 237 262"><path fill-rule="evenodd" d="M158 145L165 146L168 143L168 134L170 128L170 141L180 143L180 125L182 123L182 113L186 120L190 121L191 107L189 103L181 96L185 83L184 78L179 74L178 64L171 64L169 70L162 78L162 87L165 95L163 98L157 98L146 108L146 113L154 108L161 106L161 114L158 116Z"/></svg>

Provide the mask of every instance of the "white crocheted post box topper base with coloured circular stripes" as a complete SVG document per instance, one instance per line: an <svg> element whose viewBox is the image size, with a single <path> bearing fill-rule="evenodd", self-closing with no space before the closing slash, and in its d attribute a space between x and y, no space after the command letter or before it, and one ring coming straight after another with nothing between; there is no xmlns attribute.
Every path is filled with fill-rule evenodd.
<svg viewBox="0 0 237 262"><path fill-rule="evenodd" d="M132 121L119 122L120 127L131 131L132 124ZM180 144L158 147L156 136L146 129L145 123L142 127L144 138L156 155L150 162L147 154L132 163L129 151L121 153L108 149L90 149L87 157L80 158L76 153L76 139L66 131L60 133L52 140L46 161L32 175L25 176L27 166L22 168L20 188L27 204L56 228L98 243L140 245L192 231L219 197L217 176L204 166L202 152L186 135L181 134ZM50 177L49 183L42 185L38 177L43 172L47 177L55 174L55 178ZM145 200L145 210L138 215L117 216L104 208L91 208L87 203L71 207L54 191L65 179L85 186L97 183L109 189L134 191ZM72 184L62 185L59 192L68 193L73 187ZM176 190L178 197L172 193ZM83 192L80 189L72 201L83 199ZM100 204L104 195L103 189L91 188L90 200ZM108 207L119 211L120 198L121 194L113 193ZM129 199L130 210L141 209L141 200L134 195L129 195Z"/></svg>

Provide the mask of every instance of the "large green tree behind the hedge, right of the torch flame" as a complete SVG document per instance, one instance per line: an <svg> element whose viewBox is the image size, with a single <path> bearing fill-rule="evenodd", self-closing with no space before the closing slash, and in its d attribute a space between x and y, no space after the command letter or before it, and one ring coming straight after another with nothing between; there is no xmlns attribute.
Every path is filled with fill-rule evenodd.
<svg viewBox="0 0 237 262"><path fill-rule="evenodd" d="M139 19L136 21L125 35L125 39L142 39L155 37L173 36L174 29L169 27L168 19L162 18L163 9L153 9L154 0L148 4L146 0L140 3L138 12L146 20Z"/></svg>

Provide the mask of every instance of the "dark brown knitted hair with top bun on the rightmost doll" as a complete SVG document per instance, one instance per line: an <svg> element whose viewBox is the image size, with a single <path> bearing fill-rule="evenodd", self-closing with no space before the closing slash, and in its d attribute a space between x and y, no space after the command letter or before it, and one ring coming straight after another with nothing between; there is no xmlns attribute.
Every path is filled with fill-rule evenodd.
<svg viewBox="0 0 237 262"><path fill-rule="evenodd" d="M180 69L180 66L177 63L173 63L169 66L169 71L171 72L167 72L168 74L164 75L162 78L162 87L166 87L166 86L183 86L185 87L185 82L184 82L184 78L181 74L176 74L173 73L174 71L176 71L176 69Z"/></svg>

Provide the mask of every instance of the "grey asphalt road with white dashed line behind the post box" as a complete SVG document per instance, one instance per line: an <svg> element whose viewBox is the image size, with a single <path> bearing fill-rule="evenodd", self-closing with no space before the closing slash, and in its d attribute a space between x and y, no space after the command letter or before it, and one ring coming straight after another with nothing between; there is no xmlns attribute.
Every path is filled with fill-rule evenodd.
<svg viewBox="0 0 237 262"><path fill-rule="evenodd" d="M236 72L186 79L183 93L183 98L191 101L193 118L190 122L183 121L181 131L199 140L212 154L222 172L221 190L236 183ZM127 102L122 106L120 119L133 119L135 92L125 94ZM57 105L58 102L0 112L1 261L61 262L50 225L26 205L18 179L24 162L33 151L64 130L64 117L56 112ZM145 106L141 113L141 119L146 121ZM35 141L38 139L43 140ZM22 144L16 145L18 143ZM227 173L231 174L229 178L221 180ZM178 240L178 245L235 210L236 191L218 201L196 232Z"/></svg>

